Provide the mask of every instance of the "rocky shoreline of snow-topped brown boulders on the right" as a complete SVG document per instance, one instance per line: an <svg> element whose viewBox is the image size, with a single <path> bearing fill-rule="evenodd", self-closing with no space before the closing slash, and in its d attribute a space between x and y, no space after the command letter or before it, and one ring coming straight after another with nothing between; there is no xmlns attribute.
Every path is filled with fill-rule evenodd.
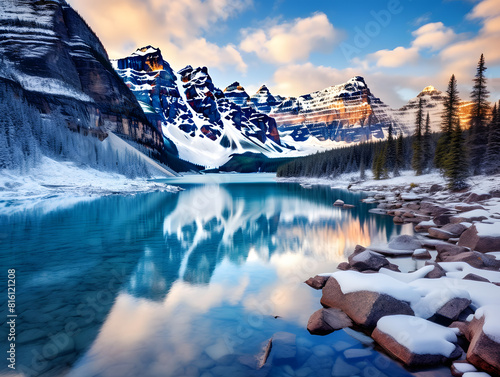
<svg viewBox="0 0 500 377"><path fill-rule="evenodd" d="M354 327L412 370L445 364L453 376L500 375L500 187L451 193L405 184L364 201L417 234L358 245L337 272L307 280L322 289L323 306L309 332ZM427 261L403 273L387 259L398 256Z"/></svg>

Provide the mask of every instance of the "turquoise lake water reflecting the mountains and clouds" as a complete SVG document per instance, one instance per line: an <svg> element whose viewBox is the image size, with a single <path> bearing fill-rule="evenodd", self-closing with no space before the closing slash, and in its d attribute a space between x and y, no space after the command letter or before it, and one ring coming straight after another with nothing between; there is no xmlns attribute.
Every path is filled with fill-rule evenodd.
<svg viewBox="0 0 500 377"><path fill-rule="evenodd" d="M303 283L411 225L369 213L360 193L266 174L168 182L185 191L0 214L1 283L15 268L18 314L18 374L4 361L0 375L411 375L352 330L310 335L321 292Z"/></svg>

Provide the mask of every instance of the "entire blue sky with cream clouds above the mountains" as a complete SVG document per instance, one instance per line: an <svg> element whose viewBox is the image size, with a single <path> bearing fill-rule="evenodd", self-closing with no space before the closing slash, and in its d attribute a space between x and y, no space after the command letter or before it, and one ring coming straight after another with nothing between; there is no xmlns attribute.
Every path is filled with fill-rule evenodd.
<svg viewBox="0 0 500 377"><path fill-rule="evenodd" d="M111 58L151 44L179 70L205 65L224 88L300 95L364 76L399 107L452 73L467 99L485 54L500 98L499 0L69 0Z"/></svg>

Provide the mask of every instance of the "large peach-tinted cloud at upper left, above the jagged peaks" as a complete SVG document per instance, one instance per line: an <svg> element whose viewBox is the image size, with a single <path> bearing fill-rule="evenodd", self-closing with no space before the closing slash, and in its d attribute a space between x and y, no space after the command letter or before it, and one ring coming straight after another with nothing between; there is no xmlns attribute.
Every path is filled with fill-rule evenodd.
<svg viewBox="0 0 500 377"><path fill-rule="evenodd" d="M219 46L202 34L247 9L252 0L69 1L97 33L111 58L153 45L174 69L192 64L246 71L234 45Z"/></svg>

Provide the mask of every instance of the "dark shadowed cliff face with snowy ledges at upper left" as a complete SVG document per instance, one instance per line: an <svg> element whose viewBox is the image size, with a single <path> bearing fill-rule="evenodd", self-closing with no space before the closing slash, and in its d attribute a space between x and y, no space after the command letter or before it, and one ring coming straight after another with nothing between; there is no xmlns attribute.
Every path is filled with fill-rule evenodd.
<svg viewBox="0 0 500 377"><path fill-rule="evenodd" d="M72 129L112 131L156 152L161 134L85 21L64 1L0 4L0 83L45 114L62 113Z"/></svg>

